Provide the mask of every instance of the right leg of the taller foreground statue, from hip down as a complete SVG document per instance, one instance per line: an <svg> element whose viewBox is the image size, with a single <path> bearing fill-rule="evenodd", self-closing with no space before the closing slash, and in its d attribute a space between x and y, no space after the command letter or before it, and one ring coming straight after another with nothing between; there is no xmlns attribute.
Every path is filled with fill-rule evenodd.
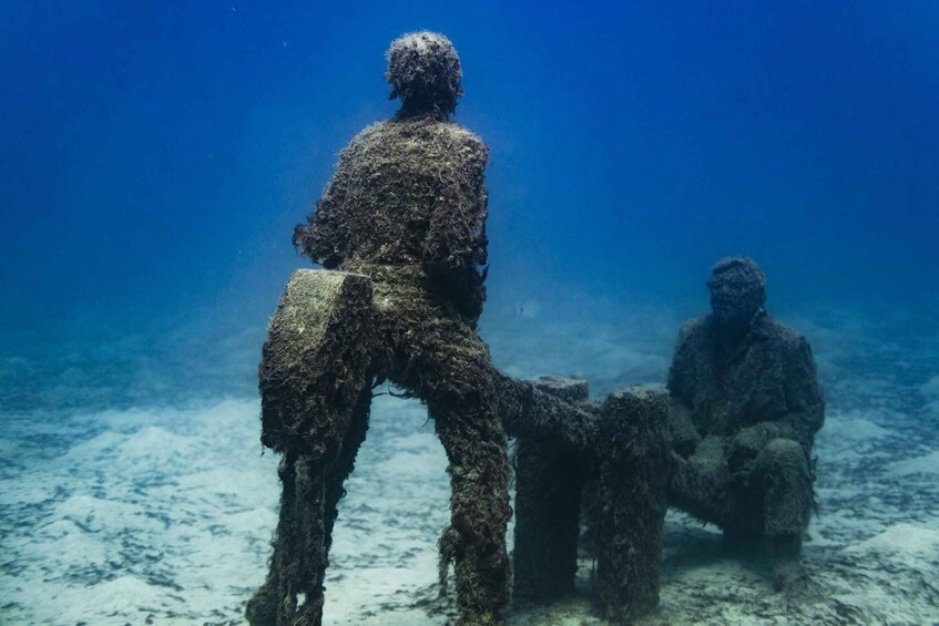
<svg viewBox="0 0 939 626"><path fill-rule="evenodd" d="M509 460L489 349L420 287L375 284L380 378L428 406L447 452L450 525L440 538L441 578L455 563L460 624L500 623L511 595L506 553ZM442 588L442 587L441 587Z"/></svg>

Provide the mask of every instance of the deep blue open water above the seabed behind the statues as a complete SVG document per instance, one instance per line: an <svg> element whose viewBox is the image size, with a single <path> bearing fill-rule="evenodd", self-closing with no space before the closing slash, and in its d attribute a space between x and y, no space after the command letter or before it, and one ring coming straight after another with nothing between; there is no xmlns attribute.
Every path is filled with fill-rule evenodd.
<svg viewBox="0 0 939 626"><path fill-rule="evenodd" d="M739 253L789 309L936 306L939 4L573 4L3 0L3 357L263 330L293 226L396 109L388 43L422 28L492 147L483 324L701 310Z"/></svg>

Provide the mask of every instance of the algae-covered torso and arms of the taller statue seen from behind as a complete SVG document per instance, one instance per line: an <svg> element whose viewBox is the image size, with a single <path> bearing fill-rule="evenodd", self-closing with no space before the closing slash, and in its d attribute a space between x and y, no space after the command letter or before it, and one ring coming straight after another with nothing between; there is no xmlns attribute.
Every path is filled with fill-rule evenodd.
<svg viewBox="0 0 939 626"><path fill-rule="evenodd" d="M382 280L397 268L478 317L483 299L488 150L452 122L390 120L343 151L305 250L327 268ZM400 273L396 273L400 274Z"/></svg>

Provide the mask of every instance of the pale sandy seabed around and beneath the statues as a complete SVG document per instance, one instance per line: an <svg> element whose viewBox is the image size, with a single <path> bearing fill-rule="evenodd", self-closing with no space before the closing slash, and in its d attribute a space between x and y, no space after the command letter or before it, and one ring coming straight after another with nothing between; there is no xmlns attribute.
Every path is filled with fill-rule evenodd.
<svg viewBox="0 0 939 626"><path fill-rule="evenodd" d="M774 593L765 554L727 554L715 528L670 513L661 607L643 622L939 623L939 340L824 312L783 320L813 341L828 397L804 554L812 585L798 598ZM487 338L511 373L578 374L602 396L664 379L676 320L653 321L660 332L649 320L525 318ZM0 623L243 623L277 520L277 458L262 454L257 415L254 399L3 414ZM452 620L436 584L445 468L423 408L377 397L340 504L327 624ZM508 623L601 624L591 567L581 561L578 594L512 606Z"/></svg>

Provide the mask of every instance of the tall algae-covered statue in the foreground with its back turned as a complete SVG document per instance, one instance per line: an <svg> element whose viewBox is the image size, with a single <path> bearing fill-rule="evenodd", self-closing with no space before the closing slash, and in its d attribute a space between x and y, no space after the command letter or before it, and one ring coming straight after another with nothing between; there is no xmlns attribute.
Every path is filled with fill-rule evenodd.
<svg viewBox="0 0 939 626"><path fill-rule="evenodd" d="M263 441L284 454L283 495L271 572L247 607L252 624L321 622L336 505L365 439L371 387L382 380L428 406L447 452L441 576L452 562L460 623L499 623L510 597L506 433L476 330L488 150L451 121L462 90L449 40L408 34L387 58L400 110L341 152L309 224L294 233L303 255L339 271L296 273L265 343Z"/></svg>

